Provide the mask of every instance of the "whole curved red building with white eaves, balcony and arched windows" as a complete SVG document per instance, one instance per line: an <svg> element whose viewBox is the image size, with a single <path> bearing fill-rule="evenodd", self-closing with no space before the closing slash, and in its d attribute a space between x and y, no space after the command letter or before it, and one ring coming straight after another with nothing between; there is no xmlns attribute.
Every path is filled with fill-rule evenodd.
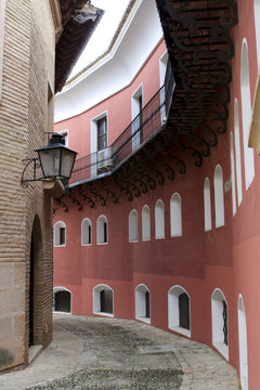
<svg viewBox="0 0 260 390"><path fill-rule="evenodd" d="M54 204L54 311L207 343L258 389L260 3L195 3L130 2L56 98L79 158Z"/></svg>

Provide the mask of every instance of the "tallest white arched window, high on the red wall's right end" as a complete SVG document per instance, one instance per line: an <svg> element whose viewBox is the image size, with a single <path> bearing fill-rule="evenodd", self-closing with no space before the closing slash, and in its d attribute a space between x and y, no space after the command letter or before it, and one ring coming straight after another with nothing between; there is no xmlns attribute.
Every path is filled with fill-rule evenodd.
<svg viewBox="0 0 260 390"><path fill-rule="evenodd" d="M251 121L251 93L249 77L249 61L247 41L244 39L242 44L240 60L240 96L242 96L242 119L243 119L243 139L244 139L244 158L245 158L245 179L246 190L255 177L253 148L248 147L248 139Z"/></svg>

